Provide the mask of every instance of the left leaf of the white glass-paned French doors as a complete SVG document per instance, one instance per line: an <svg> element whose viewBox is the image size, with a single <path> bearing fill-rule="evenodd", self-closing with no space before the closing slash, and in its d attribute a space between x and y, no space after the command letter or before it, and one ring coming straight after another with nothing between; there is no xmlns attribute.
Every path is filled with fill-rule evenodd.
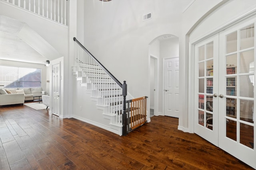
<svg viewBox="0 0 256 170"><path fill-rule="evenodd" d="M194 132L218 146L218 35L195 45Z"/></svg>

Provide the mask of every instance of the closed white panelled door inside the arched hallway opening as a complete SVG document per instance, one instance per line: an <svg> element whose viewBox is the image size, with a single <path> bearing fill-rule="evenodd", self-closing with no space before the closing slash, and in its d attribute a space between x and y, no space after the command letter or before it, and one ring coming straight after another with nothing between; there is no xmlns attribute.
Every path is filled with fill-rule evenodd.
<svg viewBox="0 0 256 170"><path fill-rule="evenodd" d="M179 58L164 59L164 115L179 117Z"/></svg>

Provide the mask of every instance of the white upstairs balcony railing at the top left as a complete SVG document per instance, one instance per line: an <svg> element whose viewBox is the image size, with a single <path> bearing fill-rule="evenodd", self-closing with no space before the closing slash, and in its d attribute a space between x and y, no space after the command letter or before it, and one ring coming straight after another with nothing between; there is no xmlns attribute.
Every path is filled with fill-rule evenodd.
<svg viewBox="0 0 256 170"><path fill-rule="evenodd" d="M1 0L67 25L67 0Z"/></svg>

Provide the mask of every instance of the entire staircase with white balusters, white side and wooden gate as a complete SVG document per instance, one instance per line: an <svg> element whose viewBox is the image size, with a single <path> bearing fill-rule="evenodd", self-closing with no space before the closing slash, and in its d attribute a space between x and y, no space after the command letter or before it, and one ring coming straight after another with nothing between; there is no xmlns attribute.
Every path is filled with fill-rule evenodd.
<svg viewBox="0 0 256 170"><path fill-rule="evenodd" d="M147 97L128 100L131 98L128 96L126 99L126 82L120 83L75 37L74 41L75 54L72 70L77 82L80 82L79 86L76 84L78 96L74 96L74 100L80 97L80 100L85 102L82 104L87 104L86 108L90 109L90 113L80 113L78 116L74 115L76 114L74 112L73 117L118 135L126 135L146 123ZM78 92L82 90L81 87L90 96L86 94L81 96ZM94 101L96 107L91 101L84 100L85 98ZM75 105L77 106L77 103Z"/></svg>

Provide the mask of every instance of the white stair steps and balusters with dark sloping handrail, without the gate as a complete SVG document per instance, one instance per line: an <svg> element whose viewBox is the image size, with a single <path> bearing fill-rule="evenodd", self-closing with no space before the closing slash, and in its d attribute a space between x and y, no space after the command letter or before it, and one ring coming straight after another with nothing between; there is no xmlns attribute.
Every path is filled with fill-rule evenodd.
<svg viewBox="0 0 256 170"><path fill-rule="evenodd" d="M77 82L91 95L96 108L102 110L104 119L109 120L110 131L122 135L122 84L78 41L74 56L72 70Z"/></svg>

